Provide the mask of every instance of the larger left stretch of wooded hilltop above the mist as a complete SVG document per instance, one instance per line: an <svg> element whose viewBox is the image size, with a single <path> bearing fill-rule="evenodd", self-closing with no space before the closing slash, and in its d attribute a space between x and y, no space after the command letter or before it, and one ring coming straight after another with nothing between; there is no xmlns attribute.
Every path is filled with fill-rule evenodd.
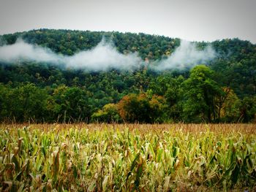
<svg viewBox="0 0 256 192"><path fill-rule="evenodd" d="M7 34L3 39L7 44L15 43L21 37L26 42L49 47L56 53L73 55L79 50L95 47L102 37L111 39L121 53L137 51L141 58L158 59L170 54L180 43L180 39L160 37L148 34L119 32L70 31L40 29L23 33Z"/></svg>

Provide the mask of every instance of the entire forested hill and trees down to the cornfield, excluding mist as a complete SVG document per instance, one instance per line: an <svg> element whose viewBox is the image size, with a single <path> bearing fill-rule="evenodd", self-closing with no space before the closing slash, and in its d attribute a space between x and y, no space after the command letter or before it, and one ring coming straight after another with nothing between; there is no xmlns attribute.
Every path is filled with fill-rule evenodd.
<svg viewBox="0 0 256 192"><path fill-rule="evenodd" d="M14 45L23 39L68 57L91 50L102 38L121 55L136 53L148 65L135 70L88 71L48 62L10 63L0 58L1 120L161 123L255 119L256 45L249 41L195 42L197 50L214 50L214 57L203 62L206 66L192 64L165 70L152 70L150 65L175 55L181 39L142 33L39 29L2 35L0 45ZM206 76L201 85L200 78L195 78L198 72ZM196 93L199 95L193 98ZM139 105L135 107L138 114L125 110L130 101ZM143 112L138 110L140 107ZM154 114L141 116L147 110Z"/></svg>

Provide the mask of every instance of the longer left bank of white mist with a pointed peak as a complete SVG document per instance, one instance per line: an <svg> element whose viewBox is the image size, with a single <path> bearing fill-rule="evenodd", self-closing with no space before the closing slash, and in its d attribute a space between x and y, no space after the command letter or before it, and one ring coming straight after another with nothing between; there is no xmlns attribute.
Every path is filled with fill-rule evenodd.
<svg viewBox="0 0 256 192"><path fill-rule="evenodd" d="M13 45L0 47L0 61L8 64L36 61L89 71L137 69L143 63L137 53L118 53L116 47L104 39L91 50L80 51L72 56L56 54L49 48L31 45L18 39Z"/></svg>

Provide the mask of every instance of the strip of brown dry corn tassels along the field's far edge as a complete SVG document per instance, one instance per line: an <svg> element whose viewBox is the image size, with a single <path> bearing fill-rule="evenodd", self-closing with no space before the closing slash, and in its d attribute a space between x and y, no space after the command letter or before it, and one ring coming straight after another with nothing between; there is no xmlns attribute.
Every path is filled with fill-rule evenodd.
<svg viewBox="0 0 256 192"><path fill-rule="evenodd" d="M24 126L30 128L38 128L42 131L51 131L52 129L58 131L69 128L87 128L89 131L96 130L105 130L105 128L110 128L113 130L124 130L129 129L143 132L148 131L184 131L192 134L198 134L200 132L212 131L216 134L230 134L240 132L242 134L256 134L256 124L243 124L243 123L227 123L227 124L185 124L185 123L175 123L175 124L105 124L105 123L77 123L77 124L29 124L29 123L20 123L20 124L0 124L0 128L12 130L13 128L23 128Z"/></svg>

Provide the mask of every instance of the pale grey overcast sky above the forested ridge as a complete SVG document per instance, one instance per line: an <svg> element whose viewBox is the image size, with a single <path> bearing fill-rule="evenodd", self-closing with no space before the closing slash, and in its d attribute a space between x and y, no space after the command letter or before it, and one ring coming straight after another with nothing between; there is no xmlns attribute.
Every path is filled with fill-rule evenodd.
<svg viewBox="0 0 256 192"><path fill-rule="evenodd" d="M256 0L0 0L0 34L56 28L256 43Z"/></svg>

